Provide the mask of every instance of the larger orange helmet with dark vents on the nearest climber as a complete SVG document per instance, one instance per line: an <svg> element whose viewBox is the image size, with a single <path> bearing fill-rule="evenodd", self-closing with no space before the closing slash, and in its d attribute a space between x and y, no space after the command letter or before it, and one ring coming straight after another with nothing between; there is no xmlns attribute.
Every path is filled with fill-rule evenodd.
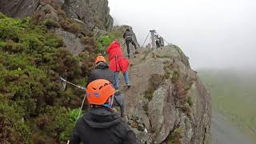
<svg viewBox="0 0 256 144"><path fill-rule="evenodd" d="M114 86L109 81L97 79L87 86L86 97L90 104L103 105L114 92Z"/></svg>

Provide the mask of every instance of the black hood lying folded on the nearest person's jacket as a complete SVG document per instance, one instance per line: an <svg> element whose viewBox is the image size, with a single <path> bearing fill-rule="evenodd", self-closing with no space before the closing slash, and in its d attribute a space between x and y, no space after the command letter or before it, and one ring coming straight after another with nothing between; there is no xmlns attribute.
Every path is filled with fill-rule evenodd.
<svg viewBox="0 0 256 144"><path fill-rule="evenodd" d="M82 120L91 128L100 129L109 128L122 121L118 114L105 108L91 109L87 114L83 115Z"/></svg>

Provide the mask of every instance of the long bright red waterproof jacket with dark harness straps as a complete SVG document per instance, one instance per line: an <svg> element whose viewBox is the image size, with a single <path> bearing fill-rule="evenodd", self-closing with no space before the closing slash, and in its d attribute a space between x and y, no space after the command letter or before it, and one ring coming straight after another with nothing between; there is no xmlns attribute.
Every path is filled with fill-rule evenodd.
<svg viewBox="0 0 256 144"><path fill-rule="evenodd" d="M109 56L110 60L110 70L114 72L125 73L129 67L129 61L127 58L123 58L122 56L122 48L117 41L114 41L110 44L110 46L106 49L106 53Z"/></svg>

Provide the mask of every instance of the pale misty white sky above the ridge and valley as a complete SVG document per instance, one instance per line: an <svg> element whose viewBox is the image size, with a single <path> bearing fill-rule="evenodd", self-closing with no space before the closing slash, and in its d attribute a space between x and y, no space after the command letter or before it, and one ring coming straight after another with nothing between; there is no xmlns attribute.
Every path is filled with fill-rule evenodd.
<svg viewBox="0 0 256 144"><path fill-rule="evenodd" d="M256 70L255 0L109 0L115 24L142 45L150 29L178 45L198 68Z"/></svg>

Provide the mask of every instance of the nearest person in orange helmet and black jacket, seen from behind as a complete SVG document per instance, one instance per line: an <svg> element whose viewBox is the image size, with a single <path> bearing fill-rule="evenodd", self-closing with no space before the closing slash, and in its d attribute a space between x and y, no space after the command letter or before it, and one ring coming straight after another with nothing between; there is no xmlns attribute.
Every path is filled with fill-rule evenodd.
<svg viewBox="0 0 256 144"><path fill-rule="evenodd" d="M111 109L114 92L105 79L90 82L86 90L90 110L78 119L70 144L137 143L133 130Z"/></svg>

